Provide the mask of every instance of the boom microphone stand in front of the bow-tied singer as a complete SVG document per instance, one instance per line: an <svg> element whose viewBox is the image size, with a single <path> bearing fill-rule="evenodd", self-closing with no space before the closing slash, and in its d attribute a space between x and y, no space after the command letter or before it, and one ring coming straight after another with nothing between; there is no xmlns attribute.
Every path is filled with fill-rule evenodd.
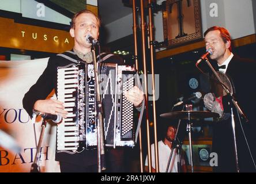
<svg viewBox="0 0 256 184"><path fill-rule="evenodd" d="M220 76L217 74L217 72L212 67L212 64L210 64L210 62L209 62L209 60L207 58L205 59L205 62L208 64L210 69L213 71L213 74L216 76L217 80L220 82L221 86L223 87L223 89L227 93L227 95L229 97L229 102L232 102L234 107L238 110L238 113L240 114L240 116L242 116L242 118L246 122L248 122L249 120L247 119L246 115L243 113L242 109L238 105L238 102L236 101L235 97L230 94L230 91L223 84L223 81L220 79ZM236 146L235 118L234 118L234 113L233 113L233 108L232 107L231 107L231 123L232 123L232 133L233 133L233 138L234 138L234 151L235 151L236 171L239 173L240 169L239 169L239 162L238 162L238 150L237 150L237 146Z"/></svg>

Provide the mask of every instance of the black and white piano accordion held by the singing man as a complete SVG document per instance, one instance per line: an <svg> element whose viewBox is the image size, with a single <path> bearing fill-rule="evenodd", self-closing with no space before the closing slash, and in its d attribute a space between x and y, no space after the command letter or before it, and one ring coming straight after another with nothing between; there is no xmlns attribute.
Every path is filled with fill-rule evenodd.
<svg viewBox="0 0 256 184"><path fill-rule="evenodd" d="M101 63L100 95L104 111L104 144L134 146L133 104L123 95L134 86L134 68ZM93 64L58 67L57 98L69 112L57 124L57 152L80 152L97 146L96 86Z"/></svg>

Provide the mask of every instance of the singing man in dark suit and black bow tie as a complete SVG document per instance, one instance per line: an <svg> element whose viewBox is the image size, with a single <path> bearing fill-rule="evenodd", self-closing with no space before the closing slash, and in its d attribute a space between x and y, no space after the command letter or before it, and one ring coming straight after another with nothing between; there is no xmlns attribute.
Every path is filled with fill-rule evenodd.
<svg viewBox="0 0 256 184"><path fill-rule="evenodd" d="M215 60L220 68L219 71L229 76L234 83L236 101L249 119L249 123L242 121L240 124L239 119L235 118L240 171L256 172L254 163L256 160L256 85L253 82L256 79L256 62L242 59L232 53L231 36L227 29L213 26L206 30L204 36L206 49L212 48L213 54L210 55L210 59ZM227 95L223 94L218 98L215 95L209 93L204 97L206 108L219 113L223 118L223 121L213 125L213 152L218 155L218 163L213 167L213 171L236 172L231 108L228 106ZM236 110L234 112L236 113Z"/></svg>

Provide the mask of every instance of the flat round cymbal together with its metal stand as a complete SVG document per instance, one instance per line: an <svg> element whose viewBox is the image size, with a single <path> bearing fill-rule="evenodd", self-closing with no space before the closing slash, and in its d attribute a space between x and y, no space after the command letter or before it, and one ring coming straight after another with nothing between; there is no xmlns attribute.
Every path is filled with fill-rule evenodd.
<svg viewBox="0 0 256 184"><path fill-rule="evenodd" d="M191 130L192 130L193 124L192 124L191 120L204 119L204 118L218 118L219 114L218 113L213 113L213 112L208 112L208 111L193 111L190 108L190 110L186 110L186 111L176 111L176 112L164 113L164 114L161 114L160 117L176 119L176 120L187 120L186 122L187 122L187 132L189 133L189 148L190 148L189 150L190 150L190 160L191 160L191 172L194 173L193 145L192 145L192 139L191 139ZM179 125L178 125L178 127L179 127ZM177 135L177 133L178 133L178 131L176 132L176 135ZM176 139L176 135L175 135L175 139ZM170 160L171 160L171 156L170 156ZM170 160L169 160L169 163L170 163ZM167 166L167 168L168 168L168 166Z"/></svg>

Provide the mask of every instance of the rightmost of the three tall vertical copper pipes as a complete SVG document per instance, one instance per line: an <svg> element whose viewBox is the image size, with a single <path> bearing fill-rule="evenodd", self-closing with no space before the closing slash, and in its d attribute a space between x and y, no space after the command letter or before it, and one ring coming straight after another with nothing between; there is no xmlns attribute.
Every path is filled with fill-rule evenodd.
<svg viewBox="0 0 256 184"><path fill-rule="evenodd" d="M153 41L153 18L152 18L152 6L151 0L149 3L149 43ZM153 120L154 120L154 141L155 141L155 166L156 173L159 173L159 155L158 155L158 143L157 143L157 128L156 128L156 97L155 97L155 70L154 70L154 45L150 44L150 62L152 72L152 95L153 95Z"/></svg>

